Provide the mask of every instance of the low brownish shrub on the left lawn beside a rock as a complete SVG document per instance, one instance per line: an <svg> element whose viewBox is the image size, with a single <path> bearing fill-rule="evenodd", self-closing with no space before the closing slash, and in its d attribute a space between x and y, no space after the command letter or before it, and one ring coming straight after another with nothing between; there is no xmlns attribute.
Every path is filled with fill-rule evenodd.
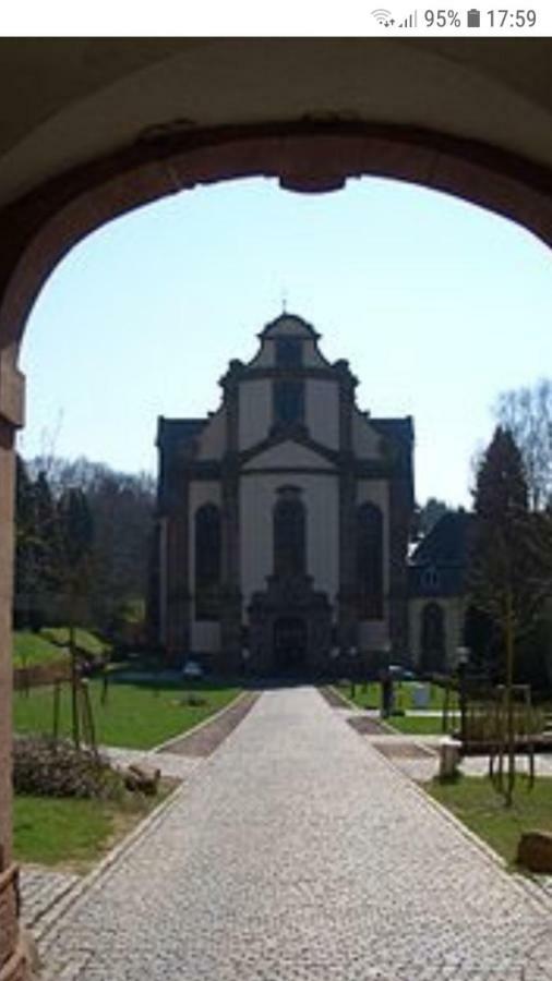
<svg viewBox="0 0 552 981"><path fill-rule="evenodd" d="M112 798L121 792L122 780L106 758L91 750L21 736L13 744L13 786L19 794L41 797Z"/></svg>

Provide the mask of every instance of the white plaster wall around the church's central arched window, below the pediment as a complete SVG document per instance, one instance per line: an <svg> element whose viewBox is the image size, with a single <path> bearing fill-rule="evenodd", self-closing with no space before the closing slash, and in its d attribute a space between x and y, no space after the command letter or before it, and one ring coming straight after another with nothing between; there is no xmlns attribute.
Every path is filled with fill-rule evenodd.
<svg viewBox="0 0 552 981"><path fill-rule="evenodd" d="M256 590L266 588L274 571L273 509L277 488L291 481L288 474L243 475L240 486L241 589L247 606ZM307 508L307 571L314 586L331 603L339 582L339 498L334 474L297 474L292 483L302 489Z"/></svg>

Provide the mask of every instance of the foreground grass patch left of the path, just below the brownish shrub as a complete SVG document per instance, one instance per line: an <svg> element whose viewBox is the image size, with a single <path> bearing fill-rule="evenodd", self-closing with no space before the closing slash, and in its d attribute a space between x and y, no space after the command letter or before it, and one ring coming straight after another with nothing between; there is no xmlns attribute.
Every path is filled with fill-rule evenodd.
<svg viewBox="0 0 552 981"><path fill-rule="evenodd" d="M129 795L118 803L17 795L13 809L15 857L21 862L85 872L173 786L175 782L164 782L157 797Z"/></svg>

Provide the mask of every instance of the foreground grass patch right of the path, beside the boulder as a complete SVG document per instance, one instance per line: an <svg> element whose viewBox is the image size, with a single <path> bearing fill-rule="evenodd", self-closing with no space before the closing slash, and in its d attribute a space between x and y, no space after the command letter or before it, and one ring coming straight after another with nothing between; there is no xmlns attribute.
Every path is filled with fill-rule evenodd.
<svg viewBox="0 0 552 981"><path fill-rule="evenodd" d="M424 789L483 838L508 864L515 862L521 832L552 832L551 777L538 777L533 789L529 790L527 778L518 775L512 808L504 807L504 798L488 777L460 776L451 784L432 780L424 785Z"/></svg>

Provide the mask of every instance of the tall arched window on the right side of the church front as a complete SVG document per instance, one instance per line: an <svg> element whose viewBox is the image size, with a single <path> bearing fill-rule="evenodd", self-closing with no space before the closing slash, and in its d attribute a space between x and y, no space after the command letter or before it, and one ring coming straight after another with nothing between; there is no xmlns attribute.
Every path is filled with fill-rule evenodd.
<svg viewBox="0 0 552 981"><path fill-rule="evenodd" d="M357 585L359 617L383 617L383 516L379 507L363 504L357 511Z"/></svg>

